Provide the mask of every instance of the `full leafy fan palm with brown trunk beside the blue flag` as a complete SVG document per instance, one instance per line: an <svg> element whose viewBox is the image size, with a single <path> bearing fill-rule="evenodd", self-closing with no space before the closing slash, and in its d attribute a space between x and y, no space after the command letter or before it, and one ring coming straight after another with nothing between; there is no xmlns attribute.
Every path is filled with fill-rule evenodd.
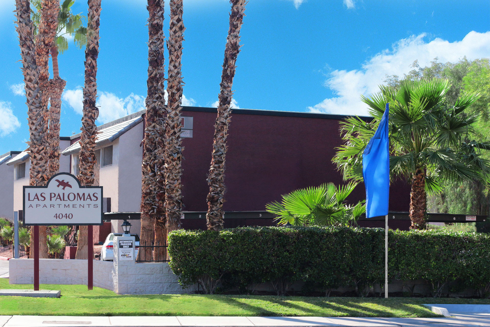
<svg viewBox="0 0 490 327"><path fill-rule="evenodd" d="M478 95L468 93L449 106L447 80L403 81L397 88L380 88L371 98L362 97L372 122L351 117L341 123L345 144L333 161L344 178L362 181L362 152L390 103L390 170L393 178L411 181L410 228L423 229L426 193L441 191L442 179L487 180L489 162L480 151L490 144L471 140L479 116L464 112Z"/></svg>

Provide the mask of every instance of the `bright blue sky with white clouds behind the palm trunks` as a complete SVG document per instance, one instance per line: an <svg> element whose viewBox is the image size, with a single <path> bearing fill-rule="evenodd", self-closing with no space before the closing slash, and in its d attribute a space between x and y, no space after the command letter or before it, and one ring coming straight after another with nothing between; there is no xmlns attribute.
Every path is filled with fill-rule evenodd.
<svg viewBox="0 0 490 327"><path fill-rule="evenodd" d="M85 15L86 7L73 6ZM0 1L0 154L23 150L28 138L13 9L14 0ZM218 99L228 12L227 0L184 0L184 105ZM416 59L490 55L488 0L249 0L245 13L233 85L239 108L365 114L360 95ZM146 20L145 0L102 0L98 124L144 109ZM59 57L62 136L80 129L83 60L74 45Z"/></svg>

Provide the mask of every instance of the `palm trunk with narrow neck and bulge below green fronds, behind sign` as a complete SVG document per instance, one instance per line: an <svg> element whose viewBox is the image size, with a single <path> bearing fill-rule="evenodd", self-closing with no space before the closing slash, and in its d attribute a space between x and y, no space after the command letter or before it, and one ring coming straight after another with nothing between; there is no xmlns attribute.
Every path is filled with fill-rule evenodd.
<svg viewBox="0 0 490 327"><path fill-rule="evenodd" d="M60 168L60 114L61 95L66 86L66 81L59 77L58 49L51 47L51 61L53 64L53 79L49 81L49 174L48 178L57 174Z"/></svg>

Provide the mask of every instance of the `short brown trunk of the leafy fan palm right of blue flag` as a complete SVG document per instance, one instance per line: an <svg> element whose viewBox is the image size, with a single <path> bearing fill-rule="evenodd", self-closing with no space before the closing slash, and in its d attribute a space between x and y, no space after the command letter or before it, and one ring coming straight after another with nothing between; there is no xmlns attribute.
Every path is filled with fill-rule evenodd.
<svg viewBox="0 0 490 327"><path fill-rule="evenodd" d="M425 229L425 211L427 210L427 195L425 193L425 172L417 169L412 178L410 193L410 229Z"/></svg>

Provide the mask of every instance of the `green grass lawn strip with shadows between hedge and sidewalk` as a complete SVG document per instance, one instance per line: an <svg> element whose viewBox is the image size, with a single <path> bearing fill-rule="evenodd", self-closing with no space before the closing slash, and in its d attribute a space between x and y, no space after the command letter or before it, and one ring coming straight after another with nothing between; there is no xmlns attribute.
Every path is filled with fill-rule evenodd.
<svg viewBox="0 0 490 327"><path fill-rule="evenodd" d="M32 289L9 285L0 289ZM1 315L53 316L323 316L439 317L422 303L490 304L490 300L432 298L311 298L236 295L116 295L84 285L42 284L61 290L61 298L0 297Z"/></svg>

